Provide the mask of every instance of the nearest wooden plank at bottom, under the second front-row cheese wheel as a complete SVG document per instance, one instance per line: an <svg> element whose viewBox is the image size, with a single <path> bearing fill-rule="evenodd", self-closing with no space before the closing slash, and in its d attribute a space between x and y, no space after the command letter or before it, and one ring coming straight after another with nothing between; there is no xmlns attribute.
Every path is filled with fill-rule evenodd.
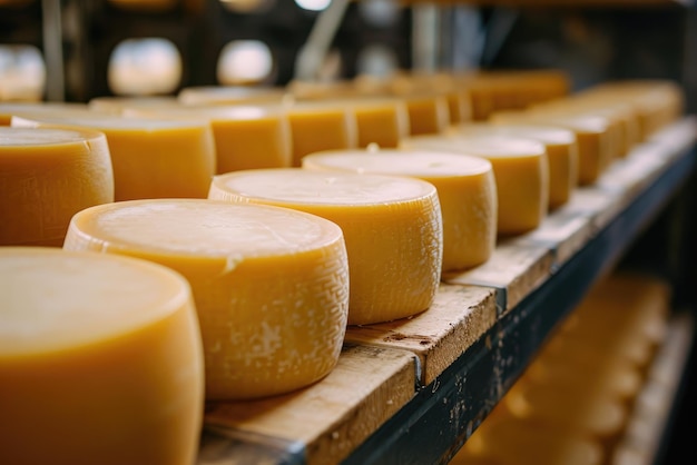
<svg viewBox="0 0 697 465"><path fill-rule="evenodd" d="M345 344L334 370L313 386L258 400L207 405L208 447L200 448L198 465L210 463L220 449L225 464L238 463L237 456L249 457L244 463L288 463L288 456L298 454L307 464L338 463L415 392L412 353Z"/></svg>

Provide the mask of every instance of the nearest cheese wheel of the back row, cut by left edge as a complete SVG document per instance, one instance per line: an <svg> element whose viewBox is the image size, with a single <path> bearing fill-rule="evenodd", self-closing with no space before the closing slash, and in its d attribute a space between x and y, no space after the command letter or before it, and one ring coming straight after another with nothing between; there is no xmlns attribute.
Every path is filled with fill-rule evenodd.
<svg viewBox="0 0 697 465"><path fill-rule="evenodd" d="M0 127L0 246L60 247L72 215L111 201L104 133Z"/></svg>

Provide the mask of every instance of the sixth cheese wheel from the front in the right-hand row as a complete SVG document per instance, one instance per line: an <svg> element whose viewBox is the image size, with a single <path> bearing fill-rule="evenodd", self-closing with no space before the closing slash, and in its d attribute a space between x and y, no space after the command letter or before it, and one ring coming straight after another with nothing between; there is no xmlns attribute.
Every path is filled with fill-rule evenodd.
<svg viewBox="0 0 697 465"><path fill-rule="evenodd" d="M452 126L449 133L462 136L513 136L540 141L547 148L549 164L549 208L569 201L578 186L578 142L569 129L542 125L464 123Z"/></svg>

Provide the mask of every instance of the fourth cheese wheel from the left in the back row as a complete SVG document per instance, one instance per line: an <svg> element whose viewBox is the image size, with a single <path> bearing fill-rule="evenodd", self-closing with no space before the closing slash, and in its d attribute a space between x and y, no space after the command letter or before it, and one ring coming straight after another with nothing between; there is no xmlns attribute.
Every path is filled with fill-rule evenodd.
<svg viewBox="0 0 697 465"><path fill-rule="evenodd" d="M341 100L287 102L283 108L291 123L292 167L314 151L359 147L356 115Z"/></svg>

